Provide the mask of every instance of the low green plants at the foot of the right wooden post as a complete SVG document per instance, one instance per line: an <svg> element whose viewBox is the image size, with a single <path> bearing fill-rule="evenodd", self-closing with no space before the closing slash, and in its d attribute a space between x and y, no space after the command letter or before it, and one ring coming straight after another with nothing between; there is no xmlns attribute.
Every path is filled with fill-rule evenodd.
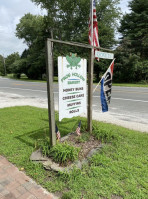
<svg viewBox="0 0 148 199"><path fill-rule="evenodd" d="M107 128L100 128L99 124L93 124L93 135L102 142L108 143L117 141L119 139L119 135Z"/></svg>

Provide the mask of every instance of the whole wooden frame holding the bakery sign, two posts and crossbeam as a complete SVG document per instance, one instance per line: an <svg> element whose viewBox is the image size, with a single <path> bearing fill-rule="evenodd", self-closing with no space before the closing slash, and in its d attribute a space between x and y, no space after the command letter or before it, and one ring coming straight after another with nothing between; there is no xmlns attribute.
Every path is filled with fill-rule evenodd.
<svg viewBox="0 0 148 199"><path fill-rule="evenodd" d="M54 95L53 95L53 54L52 54L52 43L60 43L71 46L78 46L82 48L90 49L90 62L89 62L89 74L88 74L88 109L87 109L87 120L88 130L92 132L92 94L93 94L93 67L94 67L94 47L87 44L81 44L76 42L66 42L55 39L47 39L46 42L46 68L47 68L47 93L48 93L48 115L49 115L49 129L50 129L50 142L51 146L56 144L56 133L55 133L55 112L54 112ZM109 49L95 47L95 49L102 49L111 51Z"/></svg>

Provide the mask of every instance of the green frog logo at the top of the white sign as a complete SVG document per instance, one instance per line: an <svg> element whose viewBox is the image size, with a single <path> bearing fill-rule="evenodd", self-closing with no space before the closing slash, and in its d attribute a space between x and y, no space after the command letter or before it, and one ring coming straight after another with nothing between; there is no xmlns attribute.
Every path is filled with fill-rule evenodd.
<svg viewBox="0 0 148 199"><path fill-rule="evenodd" d="M71 56L66 56L66 59L69 63L69 65L67 65L67 68L70 68L72 70L73 67L75 67L76 69L79 67L81 67L79 65L79 62L81 61L80 57L76 57L76 54L73 54Z"/></svg>

